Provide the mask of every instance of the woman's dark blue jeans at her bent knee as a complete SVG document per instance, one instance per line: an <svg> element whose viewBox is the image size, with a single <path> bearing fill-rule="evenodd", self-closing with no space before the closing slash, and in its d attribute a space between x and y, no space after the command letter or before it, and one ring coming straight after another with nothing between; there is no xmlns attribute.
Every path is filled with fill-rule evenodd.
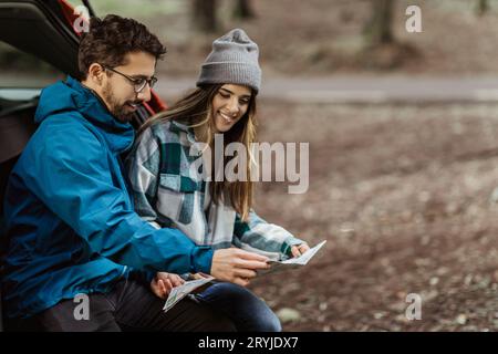
<svg viewBox="0 0 498 354"><path fill-rule="evenodd" d="M215 282L195 295L197 301L226 314L240 332L281 332L280 321L270 308L246 288Z"/></svg>

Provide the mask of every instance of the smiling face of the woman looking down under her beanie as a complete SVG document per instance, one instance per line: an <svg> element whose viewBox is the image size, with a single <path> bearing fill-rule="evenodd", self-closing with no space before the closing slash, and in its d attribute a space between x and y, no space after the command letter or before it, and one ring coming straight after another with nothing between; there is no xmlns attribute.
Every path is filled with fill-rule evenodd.
<svg viewBox="0 0 498 354"><path fill-rule="evenodd" d="M247 112L251 100L248 86L225 84L212 98L216 133L228 132Z"/></svg>

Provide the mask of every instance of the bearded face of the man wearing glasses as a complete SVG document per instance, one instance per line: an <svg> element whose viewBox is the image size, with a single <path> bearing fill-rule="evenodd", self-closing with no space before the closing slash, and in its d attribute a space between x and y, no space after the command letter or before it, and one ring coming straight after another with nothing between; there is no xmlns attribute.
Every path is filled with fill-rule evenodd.
<svg viewBox="0 0 498 354"><path fill-rule="evenodd" d="M133 52L126 54L125 65L112 67L132 79L151 79L154 75L156 59L146 52ZM134 83L125 76L106 70L102 86L102 98L108 111L123 123L132 119L137 106L151 100L151 87L148 84L136 93Z"/></svg>

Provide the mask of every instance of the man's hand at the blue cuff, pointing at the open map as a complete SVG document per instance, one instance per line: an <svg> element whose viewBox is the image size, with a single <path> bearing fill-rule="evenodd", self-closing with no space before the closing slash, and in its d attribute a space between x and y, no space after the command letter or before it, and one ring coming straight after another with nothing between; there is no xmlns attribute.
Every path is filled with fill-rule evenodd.
<svg viewBox="0 0 498 354"><path fill-rule="evenodd" d="M268 257L239 248L216 250L212 256L211 275L222 281L247 287L258 269L268 269Z"/></svg>

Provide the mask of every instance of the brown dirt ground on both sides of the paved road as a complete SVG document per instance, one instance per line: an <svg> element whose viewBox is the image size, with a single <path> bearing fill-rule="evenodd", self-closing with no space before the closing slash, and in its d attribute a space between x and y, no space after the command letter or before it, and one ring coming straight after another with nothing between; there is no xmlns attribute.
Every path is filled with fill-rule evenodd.
<svg viewBox="0 0 498 354"><path fill-rule="evenodd" d="M186 1L142 19L168 48L158 72L196 75L212 39L241 27L264 77L324 74L468 75L498 72L498 2L398 0L406 51L363 51L367 0L253 0L257 18L193 34ZM423 33L407 33L419 4ZM141 19L139 17L136 17ZM260 140L310 143L310 187L260 184L256 210L315 244L298 271L250 288L273 310L297 311L286 331L498 331L498 104L332 105L262 102ZM422 296L409 321L406 295Z"/></svg>

